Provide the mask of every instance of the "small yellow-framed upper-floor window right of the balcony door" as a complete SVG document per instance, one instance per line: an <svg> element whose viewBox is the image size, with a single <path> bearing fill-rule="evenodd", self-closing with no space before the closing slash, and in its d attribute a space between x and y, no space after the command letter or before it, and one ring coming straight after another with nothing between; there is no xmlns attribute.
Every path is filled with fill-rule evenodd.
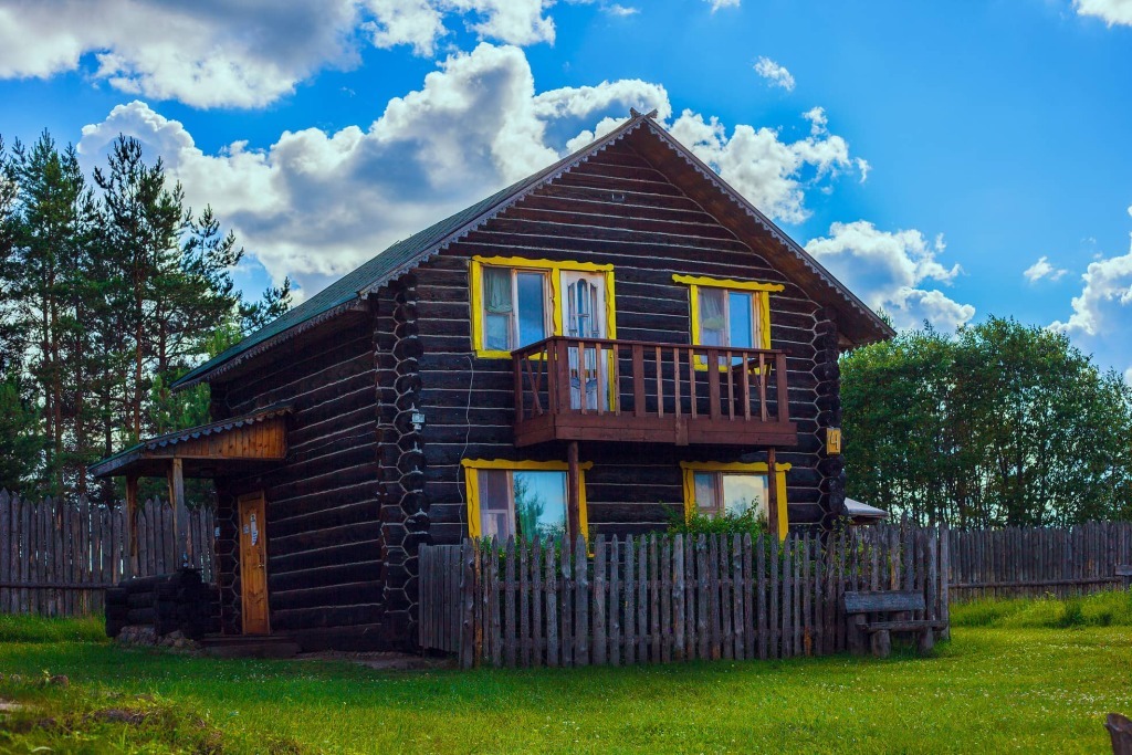
<svg viewBox="0 0 1132 755"><path fill-rule="evenodd" d="M688 284L692 310L692 343L731 349L770 349L770 292L782 291L778 283L755 283L722 278L674 275ZM702 357L696 357L703 368Z"/></svg>

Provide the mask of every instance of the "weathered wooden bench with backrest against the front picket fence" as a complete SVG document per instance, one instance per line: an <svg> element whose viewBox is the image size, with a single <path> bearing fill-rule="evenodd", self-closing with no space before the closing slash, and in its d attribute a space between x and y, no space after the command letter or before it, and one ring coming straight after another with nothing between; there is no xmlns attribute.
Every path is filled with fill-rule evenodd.
<svg viewBox="0 0 1132 755"><path fill-rule="evenodd" d="M935 619L893 618L894 614L925 610L921 592L847 592L843 606L849 621L849 646L854 652L864 652L865 637L868 636L873 654L877 658L889 655L894 632L919 635L919 651L926 653L935 645L935 630L947 626L946 621ZM874 618L868 618L869 615Z"/></svg>

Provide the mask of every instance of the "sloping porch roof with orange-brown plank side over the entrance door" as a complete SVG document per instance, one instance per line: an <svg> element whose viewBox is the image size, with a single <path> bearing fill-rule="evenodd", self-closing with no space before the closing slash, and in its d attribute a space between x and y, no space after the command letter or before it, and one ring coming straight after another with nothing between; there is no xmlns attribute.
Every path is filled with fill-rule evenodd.
<svg viewBox="0 0 1132 755"><path fill-rule="evenodd" d="M165 477L173 458L182 460L185 477L263 466L286 457L289 404L273 404L208 424L148 438L93 464L105 477Z"/></svg>

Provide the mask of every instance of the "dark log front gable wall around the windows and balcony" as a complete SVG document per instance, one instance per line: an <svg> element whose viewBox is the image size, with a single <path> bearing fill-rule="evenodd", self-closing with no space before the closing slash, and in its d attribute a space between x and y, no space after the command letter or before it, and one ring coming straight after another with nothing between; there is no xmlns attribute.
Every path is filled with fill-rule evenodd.
<svg viewBox="0 0 1132 755"><path fill-rule="evenodd" d="M675 273L783 283L783 292L770 295L771 346L789 352L790 419L800 445L781 451L778 461L792 465L791 523L822 521L831 496L818 471L824 430L816 387L823 381L835 391L837 384L826 375L831 328L818 333L817 323L829 316L623 141L417 271L435 542L456 543L466 534L461 458L566 458L554 444L524 452L512 445L511 362L475 359L471 348L468 260L474 255L612 263L617 336L624 340L689 342L688 288L672 281ZM683 505L680 461L730 462L751 451L582 444L582 461L594 462L586 473L591 533L641 533L667 524L664 506Z"/></svg>

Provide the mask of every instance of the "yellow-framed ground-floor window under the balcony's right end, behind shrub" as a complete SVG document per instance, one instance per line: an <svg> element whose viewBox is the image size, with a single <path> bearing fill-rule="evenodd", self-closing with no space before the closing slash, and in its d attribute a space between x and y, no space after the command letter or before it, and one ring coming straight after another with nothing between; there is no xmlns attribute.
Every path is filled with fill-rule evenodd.
<svg viewBox="0 0 1132 755"><path fill-rule="evenodd" d="M684 513L706 516L744 514L751 508L758 517L766 520L767 492L766 464L764 462L718 463L681 462L684 471ZM786 473L790 464L775 464L778 500L775 501L779 537L784 538L789 523L786 506Z"/></svg>

